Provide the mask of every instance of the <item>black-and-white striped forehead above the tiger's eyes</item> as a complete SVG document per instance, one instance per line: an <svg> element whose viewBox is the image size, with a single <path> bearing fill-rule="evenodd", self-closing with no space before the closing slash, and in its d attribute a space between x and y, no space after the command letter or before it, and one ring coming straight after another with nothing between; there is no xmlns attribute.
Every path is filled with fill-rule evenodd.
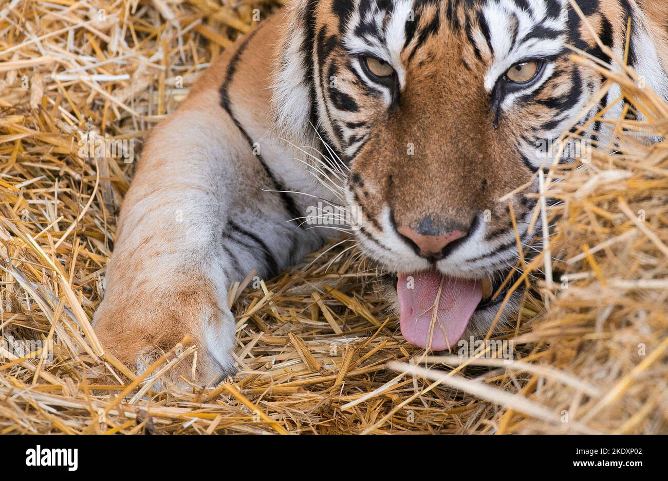
<svg viewBox="0 0 668 481"><path fill-rule="evenodd" d="M488 71L489 90L489 79L510 67L508 62L517 60L513 58L516 52L536 52L541 56L560 52L567 20L565 1L333 0L331 13L336 17L336 35L347 50L369 52L390 62L401 86L405 83L405 68L418 50L432 37L457 29L471 43L463 48L472 47L478 61L496 62ZM321 21L328 23L326 17ZM476 59L465 62L470 67Z"/></svg>

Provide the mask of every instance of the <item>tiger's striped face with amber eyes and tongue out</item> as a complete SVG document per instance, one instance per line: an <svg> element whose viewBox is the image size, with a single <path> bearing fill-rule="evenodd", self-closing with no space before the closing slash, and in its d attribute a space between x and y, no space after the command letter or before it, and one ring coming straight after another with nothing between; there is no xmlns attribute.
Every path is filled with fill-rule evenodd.
<svg viewBox="0 0 668 481"><path fill-rule="evenodd" d="M524 248L533 235L537 173L552 162L539 146L582 116L586 140L595 144L602 134L604 122L587 122L621 92L613 87L590 104L603 78L574 64L566 45L611 64L594 31L636 68L654 58L648 80L666 93L637 4L578 4L587 22L567 0L295 7L277 76L279 97L292 100L279 121L302 132L315 126L345 163L359 246L389 273L401 330L415 345L448 349L488 330L518 243ZM298 113L305 103L306 121ZM621 108L617 102L605 116L617 118Z"/></svg>

